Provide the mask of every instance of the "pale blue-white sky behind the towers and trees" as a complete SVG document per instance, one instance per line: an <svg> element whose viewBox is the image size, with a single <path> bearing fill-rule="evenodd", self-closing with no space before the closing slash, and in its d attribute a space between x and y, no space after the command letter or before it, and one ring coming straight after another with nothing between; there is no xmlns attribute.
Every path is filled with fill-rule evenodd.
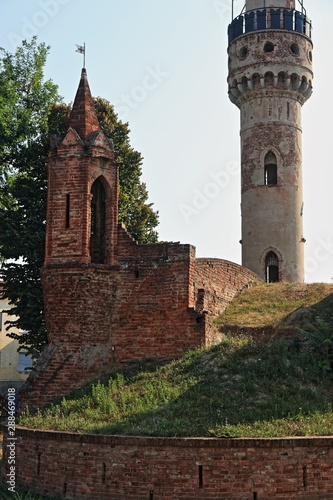
<svg viewBox="0 0 333 500"><path fill-rule="evenodd" d="M332 0L304 0L313 23L314 93L302 109L305 281L333 278ZM243 0L234 1L238 15ZM231 0L0 0L0 47L51 46L45 78L65 102L86 44L91 92L109 100L144 157L159 237L197 257L241 263L239 110L227 95ZM218 180L217 180L218 179Z"/></svg>

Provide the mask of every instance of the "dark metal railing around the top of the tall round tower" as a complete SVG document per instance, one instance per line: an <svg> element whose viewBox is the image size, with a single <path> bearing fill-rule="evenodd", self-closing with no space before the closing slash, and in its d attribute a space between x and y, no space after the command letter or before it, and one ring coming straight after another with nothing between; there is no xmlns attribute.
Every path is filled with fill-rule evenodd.
<svg viewBox="0 0 333 500"><path fill-rule="evenodd" d="M311 38L310 19L297 10L256 9L236 17L228 27L229 45L239 36L253 31L288 30Z"/></svg>

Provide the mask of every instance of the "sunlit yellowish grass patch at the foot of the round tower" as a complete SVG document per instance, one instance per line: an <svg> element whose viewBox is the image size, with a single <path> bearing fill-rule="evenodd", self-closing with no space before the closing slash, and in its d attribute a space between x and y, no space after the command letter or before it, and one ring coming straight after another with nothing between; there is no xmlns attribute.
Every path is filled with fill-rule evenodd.
<svg viewBox="0 0 333 500"><path fill-rule="evenodd" d="M300 308L304 326L309 316L322 314L333 308L333 285L277 283L258 285L246 290L219 316L219 325L237 325L251 328L278 327Z"/></svg>

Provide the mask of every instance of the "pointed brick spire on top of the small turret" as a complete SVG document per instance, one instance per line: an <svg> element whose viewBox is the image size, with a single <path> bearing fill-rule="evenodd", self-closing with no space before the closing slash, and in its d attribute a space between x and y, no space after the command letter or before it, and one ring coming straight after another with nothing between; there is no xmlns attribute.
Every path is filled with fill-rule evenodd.
<svg viewBox="0 0 333 500"><path fill-rule="evenodd" d="M69 117L68 128L70 127L75 129L84 141L87 140L91 132L100 130L85 68L82 69L79 88Z"/></svg>

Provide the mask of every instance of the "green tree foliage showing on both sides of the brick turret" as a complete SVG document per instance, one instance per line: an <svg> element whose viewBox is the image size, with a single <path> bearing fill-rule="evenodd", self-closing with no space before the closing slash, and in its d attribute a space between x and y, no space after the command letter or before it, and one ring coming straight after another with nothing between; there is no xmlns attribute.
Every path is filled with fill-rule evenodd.
<svg viewBox="0 0 333 500"><path fill-rule="evenodd" d="M47 173L51 135L64 135L71 105L58 87L44 81L49 52L36 38L14 54L0 49L0 257L3 295L16 318L9 327L25 331L20 349L37 356L46 344L40 269L44 262ZM119 221L139 243L157 241L158 213L147 203L141 182L142 156L130 146L129 126L112 105L96 98L101 128L112 137L120 166ZM1 262L0 259L0 262Z"/></svg>

